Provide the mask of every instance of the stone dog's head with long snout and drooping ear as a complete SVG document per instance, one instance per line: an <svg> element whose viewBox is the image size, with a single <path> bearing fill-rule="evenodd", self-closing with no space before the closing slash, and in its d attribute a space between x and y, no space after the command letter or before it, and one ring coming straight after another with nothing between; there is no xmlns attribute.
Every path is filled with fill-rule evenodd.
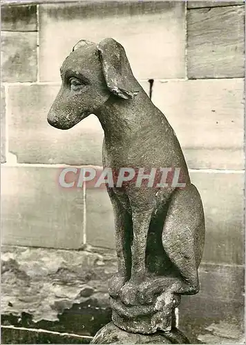
<svg viewBox="0 0 246 345"><path fill-rule="evenodd" d="M124 48L114 39L98 45L81 40L61 66L62 85L48 113L48 123L68 129L96 112L113 94L131 99L138 91Z"/></svg>

